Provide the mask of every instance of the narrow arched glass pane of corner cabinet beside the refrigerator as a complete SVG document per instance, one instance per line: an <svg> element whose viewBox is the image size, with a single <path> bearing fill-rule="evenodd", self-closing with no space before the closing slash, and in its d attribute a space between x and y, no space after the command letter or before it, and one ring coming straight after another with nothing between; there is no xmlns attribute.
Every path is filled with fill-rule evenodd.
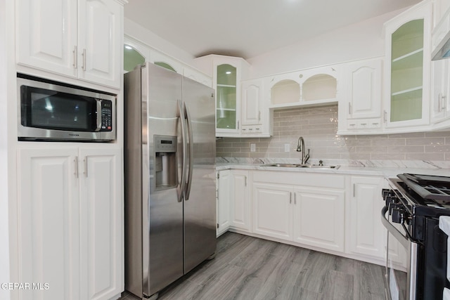
<svg viewBox="0 0 450 300"><path fill-rule="evenodd" d="M236 130L236 67L217 65L216 72L216 128Z"/></svg>

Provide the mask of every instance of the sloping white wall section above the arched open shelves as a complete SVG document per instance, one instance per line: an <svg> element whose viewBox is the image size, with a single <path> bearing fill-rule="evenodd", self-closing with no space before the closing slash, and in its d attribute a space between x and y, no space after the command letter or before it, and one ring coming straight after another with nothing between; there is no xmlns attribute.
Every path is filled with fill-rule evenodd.
<svg viewBox="0 0 450 300"><path fill-rule="evenodd" d="M383 23L401 11L404 10L380 15L250 58L250 77L264 77L308 67L384 56Z"/></svg>

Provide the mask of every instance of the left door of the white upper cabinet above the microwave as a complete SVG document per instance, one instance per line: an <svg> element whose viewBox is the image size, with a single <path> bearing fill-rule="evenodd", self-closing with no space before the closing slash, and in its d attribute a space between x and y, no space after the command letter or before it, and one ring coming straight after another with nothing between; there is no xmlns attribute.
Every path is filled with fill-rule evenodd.
<svg viewBox="0 0 450 300"><path fill-rule="evenodd" d="M77 76L77 1L16 2L17 63Z"/></svg>

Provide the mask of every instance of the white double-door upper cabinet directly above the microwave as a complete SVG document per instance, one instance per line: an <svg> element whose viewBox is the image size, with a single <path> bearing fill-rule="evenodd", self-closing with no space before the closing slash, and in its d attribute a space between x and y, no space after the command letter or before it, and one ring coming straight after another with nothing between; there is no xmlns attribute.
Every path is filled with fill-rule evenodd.
<svg viewBox="0 0 450 300"><path fill-rule="evenodd" d="M20 0L16 6L18 65L120 88L121 1Z"/></svg>

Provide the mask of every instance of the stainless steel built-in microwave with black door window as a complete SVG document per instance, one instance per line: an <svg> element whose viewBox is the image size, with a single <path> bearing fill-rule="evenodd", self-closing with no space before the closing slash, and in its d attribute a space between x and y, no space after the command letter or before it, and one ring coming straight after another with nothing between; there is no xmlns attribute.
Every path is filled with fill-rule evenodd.
<svg viewBox="0 0 450 300"><path fill-rule="evenodd" d="M116 96L18 74L19 141L114 141Z"/></svg>

